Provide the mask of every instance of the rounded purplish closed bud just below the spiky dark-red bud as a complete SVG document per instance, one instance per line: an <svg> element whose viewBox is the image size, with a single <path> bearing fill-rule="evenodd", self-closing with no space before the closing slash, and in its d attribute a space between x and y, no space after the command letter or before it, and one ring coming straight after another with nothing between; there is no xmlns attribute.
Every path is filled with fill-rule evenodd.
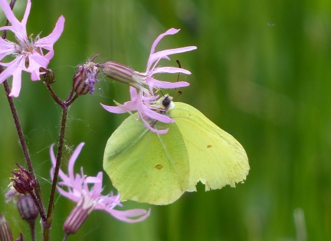
<svg viewBox="0 0 331 241"><path fill-rule="evenodd" d="M24 194L19 197L19 200L17 201L17 209L19 209L19 215L21 215L21 218L26 221L34 221L39 215L37 206L34 204L30 194Z"/></svg>

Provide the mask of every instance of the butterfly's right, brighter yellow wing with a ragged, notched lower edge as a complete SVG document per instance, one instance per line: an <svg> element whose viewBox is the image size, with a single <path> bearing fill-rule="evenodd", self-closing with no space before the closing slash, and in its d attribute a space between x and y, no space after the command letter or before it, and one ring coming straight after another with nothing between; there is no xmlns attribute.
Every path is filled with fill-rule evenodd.
<svg viewBox="0 0 331 241"><path fill-rule="evenodd" d="M212 123L199 110L185 103L174 103L170 117L183 136L190 160L190 180L186 191L197 191L197 182L205 190L235 186L248 175L250 166L240 143Z"/></svg>

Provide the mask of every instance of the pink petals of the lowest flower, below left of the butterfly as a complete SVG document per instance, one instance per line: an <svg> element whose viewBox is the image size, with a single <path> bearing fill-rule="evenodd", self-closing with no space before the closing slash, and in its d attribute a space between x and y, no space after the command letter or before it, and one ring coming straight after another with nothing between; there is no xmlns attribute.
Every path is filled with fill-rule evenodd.
<svg viewBox="0 0 331 241"><path fill-rule="evenodd" d="M144 209L132 209L126 211L115 210L114 207L120 206L119 194L113 195L112 192L106 196L101 195L102 191L102 172L100 171L97 176L86 176L83 174L83 167L81 167L81 174L74 175L74 163L81 152L81 148L84 143L78 145L74 150L69 163L68 163L68 175L59 170L59 176L62 179L59 185L66 186L68 191L65 191L61 187L57 186L59 193L70 200L77 202L77 207L82 207L84 210L92 211L93 209L99 209L107 211L114 218L122 220L124 222L140 222L145 220L150 215L150 210ZM52 169L50 170L50 176L53 178L54 167L56 165L56 158L54 156L53 146L50 147L50 158L52 160ZM92 187L91 187L92 185ZM90 189L89 187L90 186ZM141 216L137 219L131 219L137 216Z"/></svg>

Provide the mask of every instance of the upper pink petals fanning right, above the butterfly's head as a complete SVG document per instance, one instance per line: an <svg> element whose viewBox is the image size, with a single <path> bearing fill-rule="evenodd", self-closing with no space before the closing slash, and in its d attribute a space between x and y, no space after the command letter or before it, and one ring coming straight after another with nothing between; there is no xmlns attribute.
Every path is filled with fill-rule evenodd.
<svg viewBox="0 0 331 241"><path fill-rule="evenodd" d="M157 37L157 39L155 39L154 43L152 44L152 48L150 50L150 57L148 58L148 62L147 62L146 72L139 73L139 72L135 71L132 76L132 78L135 81L148 85L150 87L151 93L153 93L153 90L152 90L153 87L171 89L171 88L178 88L178 87L186 87L186 86L190 85L188 82L185 82L185 81L171 83L171 82L166 82L166 81L158 81L157 79L152 77L154 74L159 74L159 73L191 74L190 71L184 70L179 67L156 67L161 59L170 60L170 58L168 56L170 54L179 54L182 52L188 52L188 51L197 49L196 46L189 46L189 47L174 48L174 49L170 49L170 50L162 50L159 52L154 52L159 41L161 41L161 39L163 39L163 36L170 35L170 34L177 34L177 32L179 32L179 30L170 28L170 30L168 30L167 32L160 34Z"/></svg>

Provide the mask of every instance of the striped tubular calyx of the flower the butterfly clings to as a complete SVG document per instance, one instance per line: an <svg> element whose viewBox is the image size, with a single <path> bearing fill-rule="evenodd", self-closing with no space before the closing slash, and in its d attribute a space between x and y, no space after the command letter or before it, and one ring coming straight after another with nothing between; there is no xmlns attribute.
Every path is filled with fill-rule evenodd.
<svg viewBox="0 0 331 241"><path fill-rule="evenodd" d="M134 74L137 72L131 67L112 61L106 62L103 65L100 65L100 67L102 68L103 74L112 78L114 81L126 83L135 87L137 90L141 89L141 84L134 79Z"/></svg>

